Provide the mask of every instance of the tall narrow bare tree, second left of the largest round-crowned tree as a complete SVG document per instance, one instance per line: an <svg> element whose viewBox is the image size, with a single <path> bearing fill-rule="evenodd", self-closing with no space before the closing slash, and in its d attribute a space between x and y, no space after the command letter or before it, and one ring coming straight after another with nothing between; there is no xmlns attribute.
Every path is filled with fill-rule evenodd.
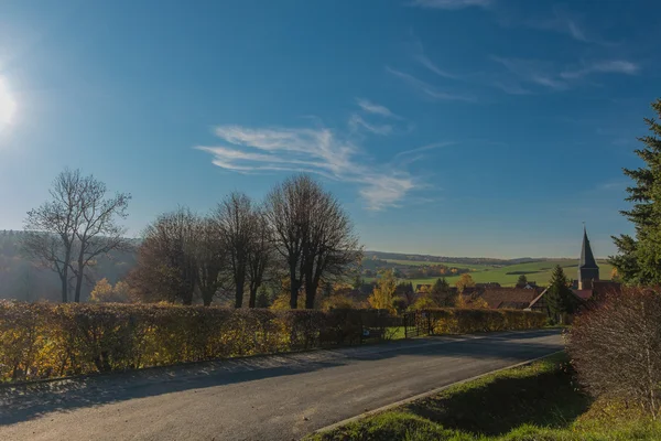
<svg viewBox="0 0 661 441"><path fill-rule="evenodd" d="M252 212L250 197L234 192L218 204L214 214L235 288L235 308L243 304L249 249L254 228Z"/></svg>

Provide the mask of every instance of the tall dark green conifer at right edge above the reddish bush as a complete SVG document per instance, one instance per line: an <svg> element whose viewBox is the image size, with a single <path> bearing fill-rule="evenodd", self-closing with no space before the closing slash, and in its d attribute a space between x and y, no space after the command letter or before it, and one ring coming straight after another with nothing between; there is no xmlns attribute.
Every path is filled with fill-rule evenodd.
<svg viewBox="0 0 661 441"><path fill-rule="evenodd" d="M661 99L652 103L652 109L661 118ZM644 118L650 133L638 138L643 143L635 152L646 164L639 169L624 169L633 185L627 189L628 202L633 204L622 211L636 227L636 236L613 237L619 254L610 257L626 283L661 283L661 123Z"/></svg>

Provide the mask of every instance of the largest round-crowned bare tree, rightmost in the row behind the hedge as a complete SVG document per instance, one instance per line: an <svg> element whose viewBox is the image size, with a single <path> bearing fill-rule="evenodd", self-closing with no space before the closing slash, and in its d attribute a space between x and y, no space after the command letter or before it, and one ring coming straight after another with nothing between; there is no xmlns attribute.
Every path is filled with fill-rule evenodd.
<svg viewBox="0 0 661 441"><path fill-rule="evenodd" d="M314 308L324 279L339 278L361 257L353 225L337 200L307 175L275 186L267 197L267 218L275 249L290 272L290 306L305 286L305 308Z"/></svg>

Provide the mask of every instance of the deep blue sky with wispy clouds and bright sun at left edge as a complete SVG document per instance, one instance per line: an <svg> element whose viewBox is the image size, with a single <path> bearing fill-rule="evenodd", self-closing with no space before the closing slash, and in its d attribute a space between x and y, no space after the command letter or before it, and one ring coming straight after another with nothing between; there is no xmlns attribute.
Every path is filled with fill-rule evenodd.
<svg viewBox="0 0 661 441"><path fill-rule="evenodd" d="M655 1L4 1L0 228L65 166L129 233L295 171L368 249L598 256L661 95ZM655 87L654 87L655 86Z"/></svg>

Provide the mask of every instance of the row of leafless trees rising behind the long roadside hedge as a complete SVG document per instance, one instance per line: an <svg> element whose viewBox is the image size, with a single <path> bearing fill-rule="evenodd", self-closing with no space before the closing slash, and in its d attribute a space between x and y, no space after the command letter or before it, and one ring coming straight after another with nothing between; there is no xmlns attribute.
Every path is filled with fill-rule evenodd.
<svg viewBox="0 0 661 441"><path fill-rule="evenodd" d="M79 302L96 259L133 246L120 226L131 196L108 195L79 170L59 173L51 196L28 213L22 248L57 273L63 302ZM204 215L185 206L161 214L137 248L137 266L121 287L133 300L209 305L231 291L236 308L245 294L256 308L260 288L274 281L288 289L290 308L303 295L312 309L319 288L343 280L362 257L342 204L305 174L274 185L261 203L232 192Z"/></svg>

